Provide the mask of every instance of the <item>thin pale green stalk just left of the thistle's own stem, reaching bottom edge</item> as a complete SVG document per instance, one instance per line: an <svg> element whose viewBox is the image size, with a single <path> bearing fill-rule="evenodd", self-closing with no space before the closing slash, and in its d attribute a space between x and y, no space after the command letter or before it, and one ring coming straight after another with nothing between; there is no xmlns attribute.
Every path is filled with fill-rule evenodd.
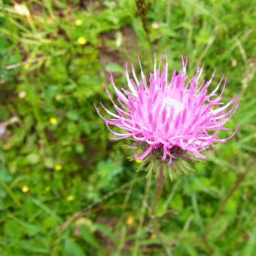
<svg viewBox="0 0 256 256"><path fill-rule="evenodd" d="M141 209L141 212L139 215L139 226L138 226L137 233L136 233L136 242L133 247L133 256L137 256L138 250L139 250L140 235L142 233L143 222L145 219L145 212L146 212L146 205L147 205L146 202L148 200L148 193L149 193L149 189L151 187L151 177L152 177L152 172L149 172L147 183L145 186L144 197L143 197L143 201L142 201L142 209Z"/></svg>

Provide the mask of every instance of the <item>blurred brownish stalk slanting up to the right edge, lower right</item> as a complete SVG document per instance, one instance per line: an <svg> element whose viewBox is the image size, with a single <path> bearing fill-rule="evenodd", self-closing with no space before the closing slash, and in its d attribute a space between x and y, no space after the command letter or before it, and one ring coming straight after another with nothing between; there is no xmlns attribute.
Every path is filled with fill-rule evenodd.
<svg viewBox="0 0 256 256"><path fill-rule="evenodd" d="M228 200L233 196L233 194L236 192L239 185L242 183L242 181L245 179L245 176L248 174L248 172L251 169L251 166L256 163L256 157L254 160L247 166L245 169L245 172L237 179L236 183L234 184L233 188L230 190L230 193L227 194L227 197L224 199L224 201L221 203L221 205L218 207L217 212L215 213L215 217L213 218L212 222L209 224L209 226L206 229L206 233L203 236L203 241L206 242L207 238L209 236L209 233L212 231L212 227L215 225L216 221L218 221L219 216L221 215L221 212L224 210L225 206L227 205Z"/></svg>

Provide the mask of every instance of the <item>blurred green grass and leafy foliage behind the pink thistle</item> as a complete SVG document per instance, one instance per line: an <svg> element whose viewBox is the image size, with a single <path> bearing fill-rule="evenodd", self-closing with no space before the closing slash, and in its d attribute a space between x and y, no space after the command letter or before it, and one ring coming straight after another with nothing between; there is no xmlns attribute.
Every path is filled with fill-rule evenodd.
<svg viewBox="0 0 256 256"><path fill-rule="evenodd" d="M133 0L0 3L1 255L256 254L254 0L149 0L148 34ZM229 126L241 127L196 175L165 181L160 236L147 206L138 239L145 172L93 103L112 108L110 70L126 87L126 61L138 70L139 54L148 73L166 50L169 72L187 55L190 76L197 62L208 79L217 67L212 88L227 76L224 102L242 98Z"/></svg>

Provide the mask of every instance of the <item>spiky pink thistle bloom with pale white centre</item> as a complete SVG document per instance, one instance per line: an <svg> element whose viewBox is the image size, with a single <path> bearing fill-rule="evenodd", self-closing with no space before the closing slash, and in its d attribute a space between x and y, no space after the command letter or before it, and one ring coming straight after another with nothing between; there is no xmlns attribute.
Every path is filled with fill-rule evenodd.
<svg viewBox="0 0 256 256"><path fill-rule="evenodd" d="M141 68L141 79L136 76L132 64L133 78L130 78L128 65L126 63L126 79L130 91L123 88L119 90L110 75L110 81L117 94L118 106L112 99L108 88L106 91L114 105L116 113L109 111L102 103L102 108L111 116L108 120L96 111L105 120L108 130L114 134L112 139L131 138L136 142L142 142L145 151L135 158L143 160L149 154L160 155L163 162L169 160L169 165L176 157L186 157L186 153L194 155L197 159L206 159L215 151L215 142L227 142L235 132L227 139L219 139L219 130L230 130L224 128L236 109L239 106L239 97L234 96L226 105L221 102L221 96L227 84L227 78L221 78L218 86L211 93L209 86L215 75L209 81L200 83L200 76L203 66L198 66L197 75L187 81L186 66L187 59L182 58L182 68L179 73L172 73L172 78L168 78L168 60L160 72L162 58L157 69L156 54L154 56L154 72L150 73L147 81L139 59ZM223 84L221 93L218 90ZM222 105L222 106L221 106ZM218 107L219 106L219 107ZM218 108L216 108L218 107ZM110 126L117 126L126 133L117 133L111 130ZM212 148L212 152L205 156L201 151Z"/></svg>

